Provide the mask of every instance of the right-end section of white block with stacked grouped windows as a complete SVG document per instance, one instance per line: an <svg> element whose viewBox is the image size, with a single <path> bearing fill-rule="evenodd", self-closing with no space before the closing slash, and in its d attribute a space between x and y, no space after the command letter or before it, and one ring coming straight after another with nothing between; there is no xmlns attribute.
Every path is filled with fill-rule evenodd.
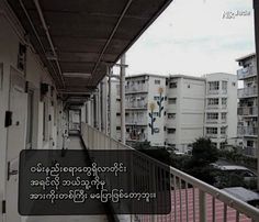
<svg viewBox="0 0 259 222"><path fill-rule="evenodd" d="M223 148L228 140L237 135L237 77L216 73L205 75L205 79L204 135L217 148Z"/></svg>

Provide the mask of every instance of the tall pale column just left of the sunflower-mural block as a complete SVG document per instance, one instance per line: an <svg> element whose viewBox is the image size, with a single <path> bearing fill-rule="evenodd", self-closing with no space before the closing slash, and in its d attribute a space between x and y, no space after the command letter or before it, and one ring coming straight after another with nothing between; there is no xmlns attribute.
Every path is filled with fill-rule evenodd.
<svg viewBox="0 0 259 222"><path fill-rule="evenodd" d="M121 78L120 78L120 93L121 93L121 141L123 144L126 143L125 140L125 73L126 73L126 56L125 54L121 57Z"/></svg>

